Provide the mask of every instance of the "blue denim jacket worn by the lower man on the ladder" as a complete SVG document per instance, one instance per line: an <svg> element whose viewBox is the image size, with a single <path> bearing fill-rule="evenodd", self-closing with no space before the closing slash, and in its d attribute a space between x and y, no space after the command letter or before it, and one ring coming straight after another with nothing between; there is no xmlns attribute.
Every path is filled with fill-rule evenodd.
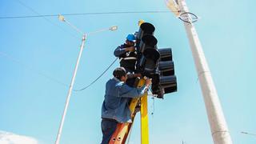
<svg viewBox="0 0 256 144"><path fill-rule="evenodd" d="M111 118L116 121L131 122L131 113L128 106L130 98L141 97L146 92L146 86L134 88L120 82L118 78L111 78L106 82L105 99L102 104L102 118Z"/></svg>

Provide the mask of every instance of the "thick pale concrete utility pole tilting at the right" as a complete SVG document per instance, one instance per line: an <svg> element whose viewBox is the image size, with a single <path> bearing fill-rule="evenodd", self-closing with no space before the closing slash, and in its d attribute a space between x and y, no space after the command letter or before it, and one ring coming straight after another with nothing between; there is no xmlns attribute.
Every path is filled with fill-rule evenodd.
<svg viewBox="0 0 256 144"><path fill-rule="evenodd" d="M177 1L168 0L166 4L171 9L170 5L172 5L172 3L177 4L176 2ZM186 6L185 0L178 0L178 5L176 6L176 9L172 8L171 10L173 12L178 11L180 14L185 12L185 16L189 18L189 20L191 20L190 15L186 14L186 12L189 12L189 10ZM208 120L210 122L210 130L212 138L214 140L214 144L232 144L230 133L226 125L226 120L222 112L222 106L219 102L217 90L215 89L214 81L211 77L210 69L206 62L206 57L203 53L198 34L192 22L184 22L184 26L186 28L186 34L190 41L190 48L198 73L198 79L200 82L202 95L206 106Z"/></svg>

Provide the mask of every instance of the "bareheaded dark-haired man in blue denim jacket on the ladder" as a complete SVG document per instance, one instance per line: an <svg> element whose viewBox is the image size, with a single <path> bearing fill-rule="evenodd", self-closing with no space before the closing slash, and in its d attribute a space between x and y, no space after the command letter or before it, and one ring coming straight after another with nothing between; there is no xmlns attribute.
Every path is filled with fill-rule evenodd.
<svg viewBox="0 0 256 144"><path fill-rule="evenodd" d="M102 103L102 144L108 144L118 123L132 122L128 102L130 98L141 97L151 85L151 79L146 78L145 85L134 88L126 85L127 74L123 67L113 72L114 78L106 82L106 91Z"/></svg>

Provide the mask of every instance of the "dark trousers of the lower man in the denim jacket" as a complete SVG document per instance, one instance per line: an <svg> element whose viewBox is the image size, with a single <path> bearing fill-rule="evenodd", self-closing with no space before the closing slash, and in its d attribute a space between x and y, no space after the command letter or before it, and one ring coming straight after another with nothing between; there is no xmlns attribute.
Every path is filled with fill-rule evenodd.
<svg viewBox="0 0 256 144"><path fill-rule="evenodd" d="M108 144L116 130L118 122L114 119L102 118L102 144Z"/></svg>

